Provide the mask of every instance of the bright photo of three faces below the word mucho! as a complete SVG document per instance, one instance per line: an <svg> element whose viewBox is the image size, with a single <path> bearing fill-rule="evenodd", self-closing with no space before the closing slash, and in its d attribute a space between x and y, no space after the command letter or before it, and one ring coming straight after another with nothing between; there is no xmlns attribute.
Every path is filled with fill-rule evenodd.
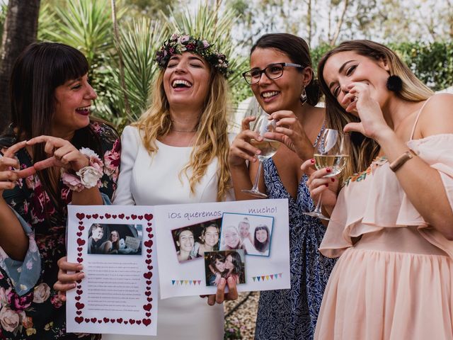
<svg viewBox="0 0 453 340"><path fill-rule="evenodd" d="M269 256L274 217L224 212L220 250L243 249L247 255Z"/></svg>

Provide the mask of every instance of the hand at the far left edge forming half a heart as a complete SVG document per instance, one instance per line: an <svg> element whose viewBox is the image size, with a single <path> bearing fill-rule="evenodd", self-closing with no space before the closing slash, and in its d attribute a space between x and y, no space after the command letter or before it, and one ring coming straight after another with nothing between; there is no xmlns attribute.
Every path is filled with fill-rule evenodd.
<svg viewBox="0 0 453 340"><path fill-rule="evenodd" d="M0 197L4 190L13 189L18 179L24 179L36 172L33 166L23 170L11 170L11 168L20 169L21 166L14 154L25 145L26 142L23 141L8 147L6 152L4 152L4 156L0 158Z"/></svg>

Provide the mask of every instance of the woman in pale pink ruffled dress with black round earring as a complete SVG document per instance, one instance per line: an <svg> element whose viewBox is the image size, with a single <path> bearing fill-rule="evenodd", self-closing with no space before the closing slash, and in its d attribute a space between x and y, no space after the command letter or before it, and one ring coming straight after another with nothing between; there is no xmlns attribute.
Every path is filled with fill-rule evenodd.
<svg viewBox="0 0 453 340"><path fill-rule="evenodd" d="M328 169L302 165L331 212L320 251L340 257L315 339L453 339L453 96L369 40L324 55L319 79L353 152L338 197Z"/></svg>

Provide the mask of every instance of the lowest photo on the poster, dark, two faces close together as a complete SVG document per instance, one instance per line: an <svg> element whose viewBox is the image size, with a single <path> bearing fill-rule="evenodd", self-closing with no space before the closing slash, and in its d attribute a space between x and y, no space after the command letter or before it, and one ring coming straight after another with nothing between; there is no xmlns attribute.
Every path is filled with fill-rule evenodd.
<svg viewBox="0 0 453 340"><path fill-rule="evenodd" d="M233 277L236 285L246 283L243 249L205 252L206 285L217 285L221 278Z"/></svg>

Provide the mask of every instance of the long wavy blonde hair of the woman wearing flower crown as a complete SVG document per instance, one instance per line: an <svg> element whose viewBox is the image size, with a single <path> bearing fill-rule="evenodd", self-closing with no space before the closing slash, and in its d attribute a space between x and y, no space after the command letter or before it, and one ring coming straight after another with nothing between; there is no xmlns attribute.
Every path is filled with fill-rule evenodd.
<svg viewBox="0 0 453 340"><path fill-rule="evenodd" d="M151 107L142 114L136 126L141 132L142 142L151 156L157 152L156 139L164 137L171 130L170 106L164 91L164 72L162 69L154 82L152 89ZM210 86L205 105L200 115L200 122L195 133L195 147L190 154L190 162L180 172L189 179L190 193L195 193L195 185L205 175L207 166L217 157L219 166L217 175L217 201L226 196L231 188L231 175L229 172L228 152L229 141L226 128L228 126L227 104L228 83L222 74L216 70L210 70ZM192 170L192 176L188 176L188 170Z"/></svg>

